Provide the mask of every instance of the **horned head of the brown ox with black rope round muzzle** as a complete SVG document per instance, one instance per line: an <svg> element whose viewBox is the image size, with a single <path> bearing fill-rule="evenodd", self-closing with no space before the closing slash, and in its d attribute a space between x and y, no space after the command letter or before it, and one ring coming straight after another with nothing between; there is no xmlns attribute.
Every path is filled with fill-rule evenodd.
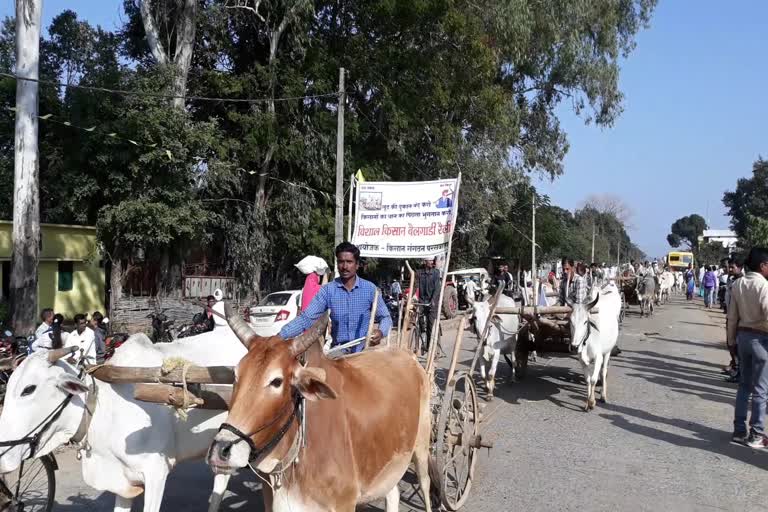
<svg viewBox="0 0 768 512"><path fill-rule="evenodd" d="M293 415L299 401L336 398L325 381L325 370L302 366L299 361L313 344L322 343L328 316L287 341L279 336L257 336L229 309L227 321L248 354L237 365L226 428L219 431L208 450L208 465L224 474L249 463L269 472L282 456L281 447L287 446L285 439L281 444L280 436L286 432L291 435L298 427ZM275 456L277 453L280 455Z"/></svg>

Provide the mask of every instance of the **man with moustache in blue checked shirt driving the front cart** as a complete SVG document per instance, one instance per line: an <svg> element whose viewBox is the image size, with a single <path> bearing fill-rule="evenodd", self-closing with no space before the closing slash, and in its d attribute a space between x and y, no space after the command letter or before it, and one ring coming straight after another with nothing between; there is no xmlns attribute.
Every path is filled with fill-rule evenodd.
<svg viewBox="0 0 768 512"><path fill-rule="evenodd" d="M332 347L366 336L376 285L357 275L360 250L351 243L342 242L336 247L336 261L339 277L317 292L307 309L282 328L280 337L286 340L295 338L309 329L329 309ZM376 305L375 319L379 328L371 334L371 345L378 345L392 328L392 317L381 294ZM347 350L352 353L360 352L364 345L360 343Z"/></svg>

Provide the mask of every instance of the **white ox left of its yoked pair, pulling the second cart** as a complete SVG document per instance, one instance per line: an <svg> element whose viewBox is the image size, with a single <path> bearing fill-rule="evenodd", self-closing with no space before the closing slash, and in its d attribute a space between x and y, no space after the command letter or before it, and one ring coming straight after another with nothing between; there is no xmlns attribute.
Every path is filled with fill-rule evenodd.
<svg viewBox="0 0 768 512"><path fill-rule="evenodd" d="M507 308L515 307L515 301L507 297L506 295L499 296L498 307ZM493 318L488 317L491 314L490 301L488 302L475 302L472 306L473 318L475 321L475 333L478 339L483 335L486 324L490 321L490 329L488 330L488 337L485 340L485 346L483 347L483 359L485 361L480 362L480 374L485 380L485 386L488 389L490 396L493 396L493 389L495 387L496 367L499 364L499 356L504 354L504 357L509 361L512 367L512 381L515 380L515 349L517 348L517 334L520 330L520 317L518 315L510 314L494 314ZM507 357L511 356L511 360ZM490 368L486 374L485 365L490 363Z"/></svg>

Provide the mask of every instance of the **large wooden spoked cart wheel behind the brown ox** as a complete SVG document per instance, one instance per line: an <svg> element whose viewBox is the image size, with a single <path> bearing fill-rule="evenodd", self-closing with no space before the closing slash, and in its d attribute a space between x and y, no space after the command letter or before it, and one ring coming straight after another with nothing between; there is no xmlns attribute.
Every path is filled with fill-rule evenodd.
<svg viewBox="0 0 768 512"><path fill-rule="evenodd" d="M469 374L458 372L443 394L435 447L436 483L447 510L459 510L469 497L482 441L479 415L475 384Z"/></svg>

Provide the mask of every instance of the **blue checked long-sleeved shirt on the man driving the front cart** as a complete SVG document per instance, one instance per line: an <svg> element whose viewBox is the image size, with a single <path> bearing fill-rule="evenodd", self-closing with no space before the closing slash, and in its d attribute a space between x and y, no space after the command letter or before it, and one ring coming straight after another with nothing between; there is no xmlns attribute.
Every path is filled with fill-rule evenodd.
<svg viewBox="0 0 768 512"><path fill-rule="evenodd" d="M283 339L295 338L309 329L315 321L323 316L326 310L331 310L331 335L333 345L342 345L349 341L363 338L368 333L368 323L371 319L371 307L376 285L357 276L352 291L348 291L340 279L320 288L315 298L301 315L289 322L280 330ZM376 321L379 329L386 336L392 328L392 318L389 316L387 305L379 295L376 306ZM351 352L363 350L364 343L356 345Z"/></svg>

